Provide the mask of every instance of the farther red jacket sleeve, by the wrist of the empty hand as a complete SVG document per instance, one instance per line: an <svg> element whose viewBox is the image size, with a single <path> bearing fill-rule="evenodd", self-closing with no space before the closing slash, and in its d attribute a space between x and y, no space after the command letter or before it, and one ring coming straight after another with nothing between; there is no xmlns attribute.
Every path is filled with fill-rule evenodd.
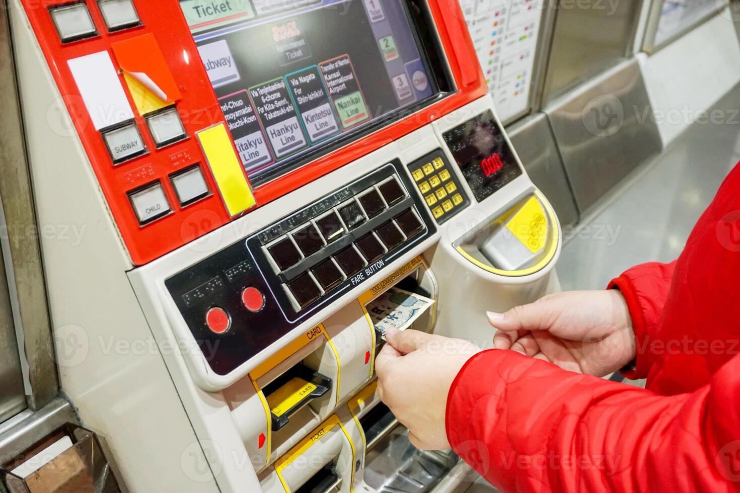
<svg viewBox="0 0 740 493"><path fill-rule="evenodd" d="M647 378L656 362L653 353L647 350L648 341L660 326L675 269L676 261L650 262L630 268L609 283L608 289L618 288L625 296L635 330L636 367L622 372L627 378Z"/></svg>

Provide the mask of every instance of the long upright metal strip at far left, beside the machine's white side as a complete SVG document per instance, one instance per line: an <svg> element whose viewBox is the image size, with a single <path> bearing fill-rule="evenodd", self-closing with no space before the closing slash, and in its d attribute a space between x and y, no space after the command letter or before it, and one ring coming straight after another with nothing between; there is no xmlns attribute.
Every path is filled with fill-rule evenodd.
<svg viewBox="0 0 740 493"><path fill-rule="evenodd" d="M59 382L13 60L10 15L16 13L7 0L0 2L0 200L7 224L1 241L21 359L27 362L28 407L36 411L58 396Z"/></svg>

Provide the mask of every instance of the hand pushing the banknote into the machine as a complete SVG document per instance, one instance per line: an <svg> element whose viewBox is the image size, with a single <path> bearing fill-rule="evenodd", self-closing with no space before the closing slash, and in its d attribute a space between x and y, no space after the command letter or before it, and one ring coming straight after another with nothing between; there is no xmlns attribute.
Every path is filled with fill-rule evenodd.
<svg viewBox="0 0 740 493"><path fill-rule="evenodd" d="M375 358L380 399L408 428L417 449L450 448L445 429L447 395L457 373L480 347L418 330L388 331Z"/></svg>

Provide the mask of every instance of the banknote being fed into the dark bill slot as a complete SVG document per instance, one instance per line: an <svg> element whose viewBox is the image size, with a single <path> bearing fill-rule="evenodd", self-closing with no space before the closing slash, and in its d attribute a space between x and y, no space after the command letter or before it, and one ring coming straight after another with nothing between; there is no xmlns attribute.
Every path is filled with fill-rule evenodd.
<svg viewBox="0 0 740 493"><path fill-rule="evenodd" d="M391 288L374 299L367 310L383 340L389 327L406 330L434 305L434 299L399 288Z"/></svg>

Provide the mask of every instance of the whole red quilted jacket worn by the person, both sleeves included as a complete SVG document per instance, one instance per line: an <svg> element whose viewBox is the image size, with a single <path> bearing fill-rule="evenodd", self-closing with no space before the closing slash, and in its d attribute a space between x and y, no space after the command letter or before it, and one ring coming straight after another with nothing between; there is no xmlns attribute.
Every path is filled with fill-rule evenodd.
<svg viewBox="0 0 740 493"><path fill-rule="evenodd" d="M504 492L740 490L740 164L679 259L614 279L647 389L505 350L448 395L455 452Z"/></svg>

